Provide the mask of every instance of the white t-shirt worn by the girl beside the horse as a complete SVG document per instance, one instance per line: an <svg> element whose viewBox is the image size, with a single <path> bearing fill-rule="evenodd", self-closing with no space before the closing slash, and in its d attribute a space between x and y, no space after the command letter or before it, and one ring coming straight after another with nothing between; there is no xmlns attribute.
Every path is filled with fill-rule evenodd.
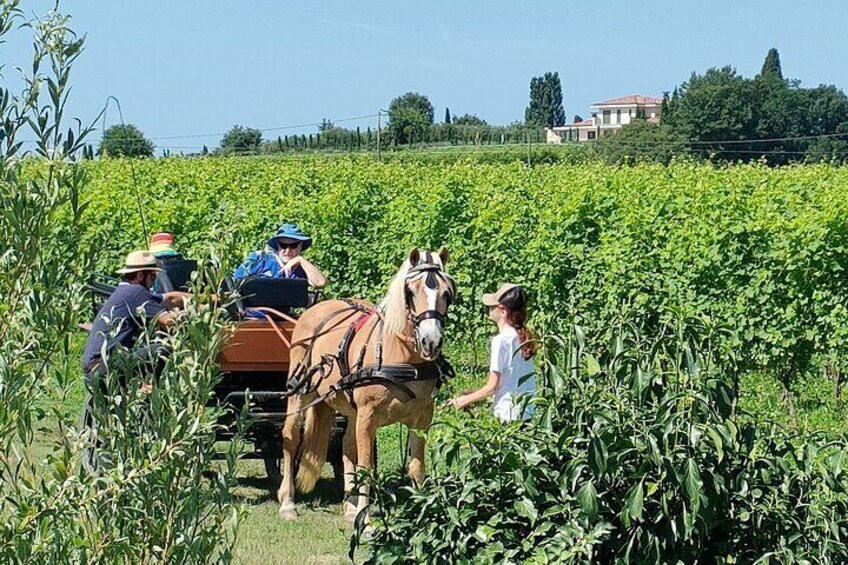
<svg viewBox="0 0 848 565"><path fill-rule="evenodd" d="M527 420L533 415L532 405L527 406L524 414L521 414L520 403L516 402L519 395L528 394L532 397L536 394L536 379L533 376L536 367L532 358L524 359L520 345L521 339L512 326L504 327L492 338L489 370L501 374L493 403L495 416L504 422ZM530 376L524 379L527 375Z"/></svg>

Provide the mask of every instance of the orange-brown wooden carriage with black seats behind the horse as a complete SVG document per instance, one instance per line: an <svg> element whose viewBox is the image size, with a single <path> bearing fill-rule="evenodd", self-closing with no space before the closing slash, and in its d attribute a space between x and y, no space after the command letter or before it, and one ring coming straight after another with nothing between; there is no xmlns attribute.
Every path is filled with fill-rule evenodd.
<svg viewBox="0 0 848 565"><path fill-rule="evenodd" d="M170 260L162 262L155 288L162 292L185 290L197 262ZM115 290L119 280L108 275L93 275L89 282L93 315ZM320 297L310 292L307 282L300 279L248 279L239 286L234 302L227 308L234 325L226 346L219 354L221 380L214 390L212 402L229 410L218 431L220 441L229 441L236 432L236 417L248 403L248 439L252 453L245 458L262 459L269 488L276 490L280 482L282 455L281 431L286 418L288 396L286 382L289 373L289 346L294 323L290 316L274 315L314 304ZM247 309L269 314L261 319L245 316ZM89 407L84 407L84 411ZM332 464L337 482L342 480L341 438L345 418L335 419L328 461Z"/></svg>

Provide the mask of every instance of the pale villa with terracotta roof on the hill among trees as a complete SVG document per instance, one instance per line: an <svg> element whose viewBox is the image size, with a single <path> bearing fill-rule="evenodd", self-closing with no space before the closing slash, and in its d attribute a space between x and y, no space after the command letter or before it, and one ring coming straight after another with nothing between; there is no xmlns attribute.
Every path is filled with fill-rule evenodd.
<svg viewBox="0 0 848 565"><path fill-rule="evenodd" d="M666 96L668 96L666 94ZM634 94L592 104L592 117L588 120L545 128L547 143L589 141L597 139L629 124L641 112L649 122L659 122L662 98Z"/></svg>

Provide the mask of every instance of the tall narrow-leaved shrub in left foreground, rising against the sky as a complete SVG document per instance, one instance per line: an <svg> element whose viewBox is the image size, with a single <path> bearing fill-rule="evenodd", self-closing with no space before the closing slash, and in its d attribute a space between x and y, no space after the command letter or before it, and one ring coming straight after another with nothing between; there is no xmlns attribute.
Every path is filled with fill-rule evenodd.
<svg viewBox="0 0 848 565"><path fill-rule="evenodd" d="M95 401L103 473L81 468L76 324L91 315L84 283L100 246L83 237L77 159L90 130L65 125L83 47L68 26L58 11L29 21L18 2L0 7L0 35L27 30L34 45L23 89L0 87L0 562L227 562L243 514L229 495L238 446L212 462L214 309L178 325L152 395L124 366L130 385Z"/></svg>

